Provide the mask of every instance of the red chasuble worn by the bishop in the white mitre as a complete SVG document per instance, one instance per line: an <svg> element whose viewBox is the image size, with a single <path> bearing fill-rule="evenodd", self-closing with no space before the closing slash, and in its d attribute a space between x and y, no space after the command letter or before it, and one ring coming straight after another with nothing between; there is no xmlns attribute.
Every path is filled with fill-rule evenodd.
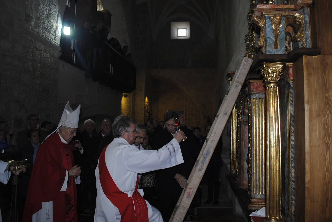
<svg viewBox="0 0 332 222"><path fill-rule="evenodd" d="M75 177L68 176L67 190L60 192L66 170L73 166L74 157L69 144L61 142L59 134L51 135L41 144L29 182L22 222L31 221L32 215L41 209L41 202L49 201L53 201L53 221L78 221Z"/></svg>

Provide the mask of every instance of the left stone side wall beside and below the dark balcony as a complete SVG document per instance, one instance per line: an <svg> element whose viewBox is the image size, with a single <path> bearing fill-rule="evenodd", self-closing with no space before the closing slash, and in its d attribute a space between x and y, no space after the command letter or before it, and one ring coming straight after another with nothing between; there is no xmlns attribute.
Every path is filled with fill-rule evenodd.
<svg viewBox="0 0 332 222"><path fill-rule="evenodd" d="M81 120L114 118L124 112L134 117L131 93L121 102L122 93L85 79L82 70L58 59L65 4L1 1L0 121L13 123L16 132L26 127L30 113L38 114L40 123L57 125L67 101L74 109L81 103ZM134 36L127 38L133 42Z"/></svg>

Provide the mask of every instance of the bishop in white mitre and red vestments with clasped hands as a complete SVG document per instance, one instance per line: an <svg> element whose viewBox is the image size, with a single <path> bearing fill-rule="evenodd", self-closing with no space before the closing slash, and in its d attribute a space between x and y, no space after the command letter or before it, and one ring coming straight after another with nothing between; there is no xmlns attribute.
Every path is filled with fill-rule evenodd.
<svg viewBox="0 0 332 222"><path fill-rule="evenodd" d="M74 163L69 142L76 135L80 108L81 105L73 111L68 102L57 129L41 143L30 178L23 222L78 222L76 183L80 183L81 169Z"/></svg>

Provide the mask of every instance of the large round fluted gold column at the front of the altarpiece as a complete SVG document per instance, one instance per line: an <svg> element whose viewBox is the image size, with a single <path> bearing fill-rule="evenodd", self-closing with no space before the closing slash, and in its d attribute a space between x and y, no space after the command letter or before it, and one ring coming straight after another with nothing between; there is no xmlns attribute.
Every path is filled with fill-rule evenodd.
<svg viewBox="0 0 332 222"><path fill-rule="evenodd" d="M266 98L266 222L279 222L281 217L281 139L279 79L283 63L263 63Z"/></svg>

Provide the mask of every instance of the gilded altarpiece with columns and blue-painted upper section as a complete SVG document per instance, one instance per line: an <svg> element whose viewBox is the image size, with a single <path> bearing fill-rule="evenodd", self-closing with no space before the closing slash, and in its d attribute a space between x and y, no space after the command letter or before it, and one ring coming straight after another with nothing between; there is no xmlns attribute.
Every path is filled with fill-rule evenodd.
<svg viewBox="0 0 332 222"><path fill-rule="evenodd" d="M310 48L312 2L250 0L245 55L254 59L249 75L260 69L264 81L247 81L249 209L266 206L266 222L295 221L292 62L320 54L319 48ZM257 85L261 91L253 90Z"/></svg>

